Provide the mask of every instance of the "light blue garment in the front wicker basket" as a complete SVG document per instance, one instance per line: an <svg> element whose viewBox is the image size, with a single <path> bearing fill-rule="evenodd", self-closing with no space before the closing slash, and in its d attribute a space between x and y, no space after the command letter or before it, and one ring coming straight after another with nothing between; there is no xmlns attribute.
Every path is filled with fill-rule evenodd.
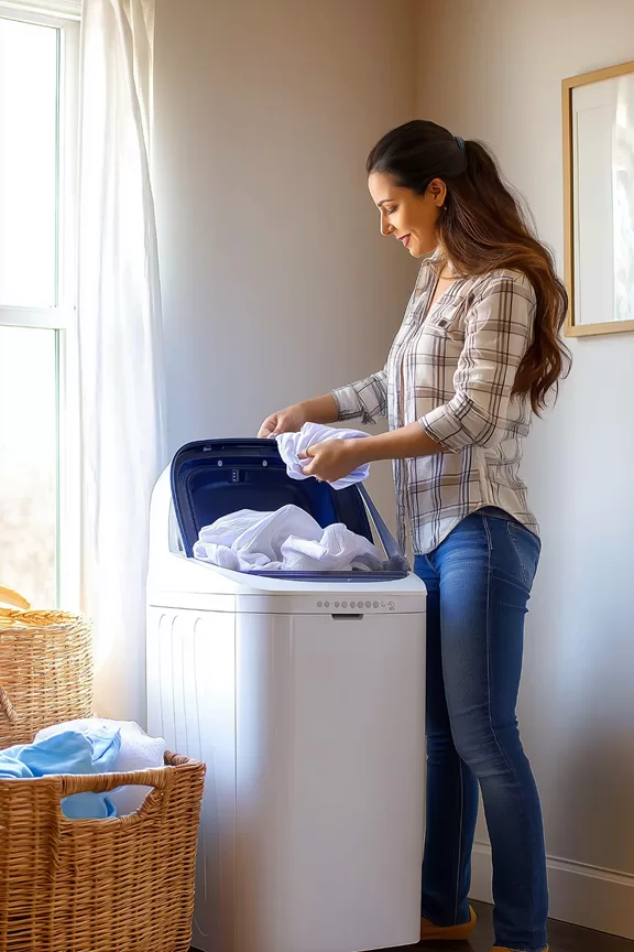
<svg viewBox="0 0 634 952"><path fill-rule="evenodd" d="M89 734L64 731L37 740L0 750L0 780L29 779L59 774L107 774L121 749L121 732L96 728ZM62 800L70 820L102 820L117 811L106 793L74 793Z"/></svg>

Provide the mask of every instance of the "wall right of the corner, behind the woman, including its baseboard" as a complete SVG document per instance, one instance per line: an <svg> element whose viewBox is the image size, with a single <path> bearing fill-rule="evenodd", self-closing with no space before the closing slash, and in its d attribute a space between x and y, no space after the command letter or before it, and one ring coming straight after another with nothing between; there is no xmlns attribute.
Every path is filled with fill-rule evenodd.
<svg viewBox="0 0 634 952"><path fill-rule="evenodd" d="M491 143L561 264L560 82L634 58L634 3L422 0L419 17L417 115ZM521 725L554 915L634 937L634 335L572 350L527 448L544 555ZM476 895L489 875L482 845Z"/></svg>

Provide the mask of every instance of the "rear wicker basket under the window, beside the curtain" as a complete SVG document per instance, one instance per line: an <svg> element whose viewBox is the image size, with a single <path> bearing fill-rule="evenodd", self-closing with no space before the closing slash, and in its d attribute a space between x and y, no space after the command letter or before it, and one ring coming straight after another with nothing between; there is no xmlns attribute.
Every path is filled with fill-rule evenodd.
<svg viewBox="0 0 634 952"><path fill-rule="evenodd" d="M0 749L30 744L42 727L91 711L89 619L0 608Z"/></svg>

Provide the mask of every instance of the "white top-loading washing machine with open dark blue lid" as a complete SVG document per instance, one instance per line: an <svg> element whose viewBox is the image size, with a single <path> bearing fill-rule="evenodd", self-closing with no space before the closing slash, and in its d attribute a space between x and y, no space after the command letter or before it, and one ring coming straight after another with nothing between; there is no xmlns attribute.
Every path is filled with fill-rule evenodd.
<svg viewBox="0 0 634 952"><path fill-rule="evenodd" d="M239 573L204 524L288 502L386 551L382 572ZM424 839L425 587L368 494L287 477L274 441L189 444L152 500L149 731L204 760L193 945L414 944Z"/></svg>

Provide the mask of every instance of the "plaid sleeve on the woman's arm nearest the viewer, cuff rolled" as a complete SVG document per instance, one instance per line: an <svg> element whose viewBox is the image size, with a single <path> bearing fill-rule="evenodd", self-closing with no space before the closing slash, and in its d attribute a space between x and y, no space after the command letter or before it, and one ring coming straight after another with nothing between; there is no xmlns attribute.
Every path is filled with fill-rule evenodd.
<svg viewBox="0 0 634 952"><path fill-rule="evenodd" d="M464 318L455 396L418 420L448 453L494 446L509 433L511 392L533 340L535 292L523 275L495 277Z"/></svg>

